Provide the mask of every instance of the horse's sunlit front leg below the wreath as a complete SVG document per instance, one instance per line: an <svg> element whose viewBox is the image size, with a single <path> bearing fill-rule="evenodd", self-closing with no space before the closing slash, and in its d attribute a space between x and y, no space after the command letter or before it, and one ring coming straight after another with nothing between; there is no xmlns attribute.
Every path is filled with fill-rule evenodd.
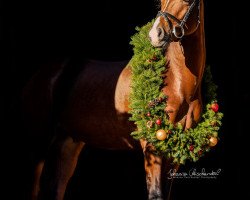
<svg viewBox="0 0 250 200"><path fill-rule="evenodd" d="M141 140L144 153L144 167L149 200L163 200L162 194L162 157L154 154L154 147Z"/></svg>

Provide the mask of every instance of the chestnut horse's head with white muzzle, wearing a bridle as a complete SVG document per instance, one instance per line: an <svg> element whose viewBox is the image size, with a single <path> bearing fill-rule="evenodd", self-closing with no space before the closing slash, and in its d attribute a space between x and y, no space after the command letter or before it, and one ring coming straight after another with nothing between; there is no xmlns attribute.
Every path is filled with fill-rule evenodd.
<svg viewBox="0 0 250 200"><path fill-rule="evenodd" d="M200 23L200 0L161 0L161 10L149 32L151 44L163 47L196 31Z"/></svg>

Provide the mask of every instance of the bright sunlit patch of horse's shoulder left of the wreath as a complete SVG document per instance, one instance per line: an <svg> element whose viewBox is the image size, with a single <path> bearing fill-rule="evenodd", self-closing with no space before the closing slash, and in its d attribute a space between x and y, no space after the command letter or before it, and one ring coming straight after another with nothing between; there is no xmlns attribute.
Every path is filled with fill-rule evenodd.
<svg viewBox="0 0 250 200"><path fill-rule="evenodd" d="M118 113L129 111L129 94L131 85L131 67L129 64L122 70L115 89L115 109Z"/></svg>

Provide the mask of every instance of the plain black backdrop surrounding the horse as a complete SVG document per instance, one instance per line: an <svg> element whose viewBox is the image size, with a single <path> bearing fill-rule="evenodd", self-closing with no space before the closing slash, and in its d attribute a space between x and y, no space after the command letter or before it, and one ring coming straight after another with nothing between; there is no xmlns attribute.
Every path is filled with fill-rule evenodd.
<svg viewBox="0 0 250 200"><path fill-rule="evenodd" d="M232 7L226 2L205 1L207 64L219 86L220 109L225 114L221 142L198 163L181 168L221 168L222 172L212 180L176 180L173 200L217 200L228 194L242 199L239 186L244 171L239 155L246 149L241 142L249 92L245 67L236 63L236 19L228 14ZM130 36L135 33L135 26L144 25L156 15L156 4L154 0L1 2L1 105L5 125L1 132L7 136L2 142L7 144L2 151L7 155L2 157L3 166L8 169L3 174L7 175L7 199L28 199L32 176L34 155L32 149L26 148L32 141L20 128L20 95L25 83L41 64L58 58L131 58ZM66 197L146 199L142 155L87 149L80 156Z"/></svg>

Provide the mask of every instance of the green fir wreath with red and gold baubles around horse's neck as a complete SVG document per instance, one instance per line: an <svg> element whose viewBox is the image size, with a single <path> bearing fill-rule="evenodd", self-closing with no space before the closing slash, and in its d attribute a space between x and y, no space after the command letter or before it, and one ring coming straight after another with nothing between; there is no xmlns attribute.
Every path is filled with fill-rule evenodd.
<svg viewBox="0 0 250 200"><path fill-rule="evenodd" d="M209 66L203 83L206 87L207 105L202 120L195 128L183 130L181 124L172 124L164 111L167 96L162 92L166 59L159 48L152 47L148 32L153 22L136 30L131 38L134 56L130 62L132 83L130 95L130 120L137 126L131 133L135 139L145 139L153 144L155 151L174 163L197 161L218 142L218 131L223 114L216 100L217 86L212 82Z"/></svg>

